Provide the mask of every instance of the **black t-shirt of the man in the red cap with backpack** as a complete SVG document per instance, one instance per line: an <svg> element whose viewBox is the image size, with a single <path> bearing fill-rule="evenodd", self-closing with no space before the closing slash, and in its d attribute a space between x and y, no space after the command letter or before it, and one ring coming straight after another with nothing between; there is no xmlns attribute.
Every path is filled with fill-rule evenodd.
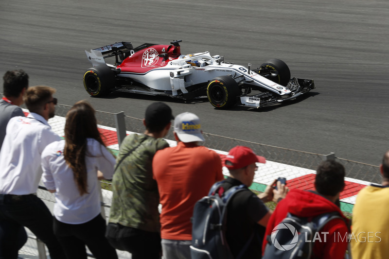
<svg viewBox="0 0 389 259"><path fill-rule="evenodd" d="M225 191L242 183L228 177L221 185ZM238 256L246 242L254 233L242 259L261 258L265 227L258 224L268 212L268 208L251 190L242 190L230 200L227 208L227 242L234 257Z"/></svg>

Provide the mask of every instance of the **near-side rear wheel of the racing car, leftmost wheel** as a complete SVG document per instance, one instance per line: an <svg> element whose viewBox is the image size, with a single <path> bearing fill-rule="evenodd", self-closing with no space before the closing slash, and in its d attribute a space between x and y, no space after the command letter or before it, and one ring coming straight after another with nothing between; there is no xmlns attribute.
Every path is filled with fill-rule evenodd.
<svg viewBox="0 0 389 259"><path fill-rule="evenodd" d="M85 71L83 81L88 94L101 97L115 87L115 74L108 66L97 66Z"/></svg>

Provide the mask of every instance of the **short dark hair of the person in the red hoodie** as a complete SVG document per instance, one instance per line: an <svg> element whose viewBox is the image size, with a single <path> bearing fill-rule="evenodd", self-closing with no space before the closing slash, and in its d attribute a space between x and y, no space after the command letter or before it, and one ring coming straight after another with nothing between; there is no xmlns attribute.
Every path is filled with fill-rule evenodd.
<svg viewBox="0 0 389 259"><path fill-rule="evenodd" d="M335 196L344 188L344 167L335 160L319 164L316 171L315 188L321 195Z"/></svg>

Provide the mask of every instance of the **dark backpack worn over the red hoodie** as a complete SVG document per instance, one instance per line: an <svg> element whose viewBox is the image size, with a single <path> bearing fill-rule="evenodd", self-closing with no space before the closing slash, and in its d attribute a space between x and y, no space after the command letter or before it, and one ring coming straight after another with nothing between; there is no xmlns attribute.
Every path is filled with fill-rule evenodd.
<svg viewBox="0 0 389 259"><path fill-rule="evenodd" d="M336 211L320 214L313 219L288 213L277 229L273 229L271 236L267 236L262 259L310 259L314 241L319 242L320 239L316 233L336 218L343 219Z"/></svg>

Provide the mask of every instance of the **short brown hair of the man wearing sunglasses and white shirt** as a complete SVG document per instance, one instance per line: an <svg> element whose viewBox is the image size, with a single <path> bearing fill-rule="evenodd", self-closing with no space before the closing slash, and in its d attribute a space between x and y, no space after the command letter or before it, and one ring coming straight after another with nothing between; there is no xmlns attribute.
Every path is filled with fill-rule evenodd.
<svg viewBox="0 0 389 259"><path fill-rule="evenodd" d="M23 100L28 110L36 113L43 110L44 105L51 101L55 91L49 86L32 86L27 89Z"/></svg>

